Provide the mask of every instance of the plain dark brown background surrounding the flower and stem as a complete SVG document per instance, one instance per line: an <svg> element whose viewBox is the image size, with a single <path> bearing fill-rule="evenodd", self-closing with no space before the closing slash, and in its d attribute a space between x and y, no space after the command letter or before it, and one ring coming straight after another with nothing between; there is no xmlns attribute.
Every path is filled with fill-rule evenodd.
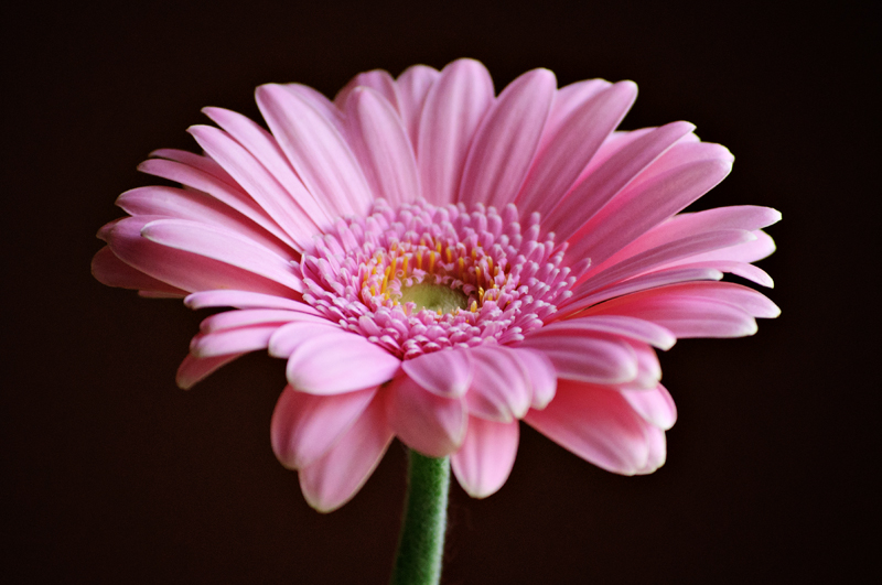
<svg viewBox="0 0 882 585"><path fill-rule="evenodd" d="M361 71L460 56L497 89L537 66L561 85L634 79L625 128L687 119L729 147L733 174L700 203L783 212L779 251L761 263L783 315L662 356L680 420L653 476L601 472L525 429L497 495L453 487L445 583L848 581L878 512L878 66L868 14L808 7L4 9L3 581L386 582L402 446L349 505L314 512L269 445L282 365L250 356L178 390L200 315L105 288L88 266L115 197L151 183L136 164L194 150L184 129L201 107L257 117L260 83L333 95Z"/></svg>

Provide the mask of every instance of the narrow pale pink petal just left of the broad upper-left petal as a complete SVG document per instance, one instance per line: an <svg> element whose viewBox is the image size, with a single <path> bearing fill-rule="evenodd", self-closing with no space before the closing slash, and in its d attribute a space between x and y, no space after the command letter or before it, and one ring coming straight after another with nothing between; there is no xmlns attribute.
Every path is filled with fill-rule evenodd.
<svg viewBox="0 0 882 585"><path fill-rule="evenodd" d="M223 108L203 108L202 111L245 147L316 226L326 228L333 224L333 214L325 202L316 201L306 191L272 134L235 111Z"/></svg>

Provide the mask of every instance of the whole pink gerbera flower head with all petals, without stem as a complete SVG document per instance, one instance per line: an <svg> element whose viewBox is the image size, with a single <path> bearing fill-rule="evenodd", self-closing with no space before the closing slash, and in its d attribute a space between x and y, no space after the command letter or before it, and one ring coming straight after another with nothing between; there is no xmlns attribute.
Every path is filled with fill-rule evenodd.
<svg viewBox="0 0 882 585"><path fill-rule="evenodd" d="M269 131L219 108L140 166L99 231L105 284L184 297L214 314L178 382L245 353L287 359L271 423L279 461L329 511L367 480L392 437L451 455L462 487L495 492L519 421L614 473L663 465L676 409L654 348L739 337L778 308L774 209L685 207L732 155L693 126L616 131L631 82L557 88L547 69L498 96L461 59L394 79L356 76L333 101L265 85Z"/></svg>

